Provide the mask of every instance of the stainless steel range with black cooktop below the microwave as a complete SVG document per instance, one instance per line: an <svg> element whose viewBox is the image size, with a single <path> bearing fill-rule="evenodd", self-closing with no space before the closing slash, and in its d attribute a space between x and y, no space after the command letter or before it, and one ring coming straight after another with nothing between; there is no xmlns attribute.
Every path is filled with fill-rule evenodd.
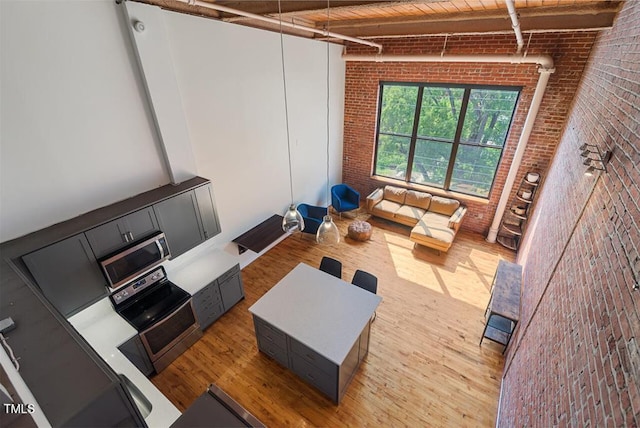
<svg viewBox="0 0 640 428"><path fill-rule="evenodd" d="M202 337L191 296L167 279L162 266L118 289L110 299L138 331L158 373Z"/></svg>

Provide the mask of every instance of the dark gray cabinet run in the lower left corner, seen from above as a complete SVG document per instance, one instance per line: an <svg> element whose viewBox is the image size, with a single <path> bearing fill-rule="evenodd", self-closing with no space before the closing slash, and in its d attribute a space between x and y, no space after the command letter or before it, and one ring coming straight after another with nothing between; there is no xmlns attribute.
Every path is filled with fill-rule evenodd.
<svg viewBox="0 0 640 428"><path fill-rule="evenodd" d="M21 239L30 240L33 235ZM13 270L21 265L14 250L20 245L11 241L0 249L7 257L0 260L0 314L15 321L9 341L20 360L20 376L44 416L54 427L146 426L116 373L39 296L35 285L24 282L27 276Z"/></svg>

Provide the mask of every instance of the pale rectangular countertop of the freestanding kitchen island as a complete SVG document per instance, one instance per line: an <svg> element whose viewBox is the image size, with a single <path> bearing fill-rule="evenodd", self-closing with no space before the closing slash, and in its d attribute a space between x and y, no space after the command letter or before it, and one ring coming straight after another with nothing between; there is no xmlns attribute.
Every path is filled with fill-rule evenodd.
<svg viewBox="0 0 640 428"><path fill-rule="evenodd" d="M376 294L300 263L249 312L341 365L381 301Z"/></svg>

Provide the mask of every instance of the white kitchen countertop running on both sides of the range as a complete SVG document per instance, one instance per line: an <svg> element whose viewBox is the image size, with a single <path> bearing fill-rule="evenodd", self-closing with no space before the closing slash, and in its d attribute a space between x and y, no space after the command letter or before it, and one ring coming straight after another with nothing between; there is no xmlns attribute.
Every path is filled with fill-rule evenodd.
<svg viewBox="0 0 640 428"><path fill-rule="evenodd" d="M167 278L193 295L237 263L237 257L203 245L163 265ZM168 427L180 417L180 411L171 401L118 350L118 346L138 332L114 311L108 297L68 321L113 371L127 376L151 402L153 408L145 418L150 427Z"/></svg>

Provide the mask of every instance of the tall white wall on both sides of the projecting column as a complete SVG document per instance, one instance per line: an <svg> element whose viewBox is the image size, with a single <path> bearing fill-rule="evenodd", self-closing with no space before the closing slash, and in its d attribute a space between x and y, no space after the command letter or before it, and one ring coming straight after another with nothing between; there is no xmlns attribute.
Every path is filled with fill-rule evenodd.
<svg viewBox="0 0 640 428"><path fill-rule="evenodd" d="M120 6L0 0L0 240L169 182ZM289 204L279 35L163 12L220 246ZM331 46L331 180L344 62ZM326 46L285 36L294 200L325 203Z"/></svg>

